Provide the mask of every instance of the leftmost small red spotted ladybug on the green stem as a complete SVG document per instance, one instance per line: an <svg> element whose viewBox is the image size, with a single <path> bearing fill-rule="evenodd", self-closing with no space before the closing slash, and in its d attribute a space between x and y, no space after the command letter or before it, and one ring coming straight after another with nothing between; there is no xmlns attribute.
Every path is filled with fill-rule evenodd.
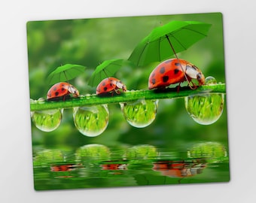
<svg viewBox="0 0 256 203"><path fill-rule="evenodd" d="M65 101L65 98L69 96L69 94L72 94L73 97L78 97L78 89L76 89L75 86L72 86L72 84L69 83L56 83L52 87L50 87L49 91L47 92L47 100L51 101L62 99L63 101Z"/></svg>

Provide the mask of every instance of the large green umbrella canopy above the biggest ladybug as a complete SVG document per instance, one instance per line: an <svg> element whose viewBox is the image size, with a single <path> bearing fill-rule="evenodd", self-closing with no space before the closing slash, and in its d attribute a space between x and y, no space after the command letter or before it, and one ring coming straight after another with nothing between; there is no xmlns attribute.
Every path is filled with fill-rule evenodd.
<svg viewBox="0 0 256 203"><path fill-rule="evenodd" d="M157 27L139 42L129 60L142 66L168 59L205 38L211 26L197 21L172 21Z"/></svg>

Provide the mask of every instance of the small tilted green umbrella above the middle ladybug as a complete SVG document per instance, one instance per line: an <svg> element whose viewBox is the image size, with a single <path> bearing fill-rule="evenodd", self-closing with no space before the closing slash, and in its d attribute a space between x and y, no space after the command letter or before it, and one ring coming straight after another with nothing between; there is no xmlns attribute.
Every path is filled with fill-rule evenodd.
<svg viewBox="0 0 256 203"><path fill-rule="evenodd" d="M102 64L96 67L88 84L90 86L97 86L103 79L112 77L121 67L126 65L132 65L132 63L125 59L105 60Z"/></svg>

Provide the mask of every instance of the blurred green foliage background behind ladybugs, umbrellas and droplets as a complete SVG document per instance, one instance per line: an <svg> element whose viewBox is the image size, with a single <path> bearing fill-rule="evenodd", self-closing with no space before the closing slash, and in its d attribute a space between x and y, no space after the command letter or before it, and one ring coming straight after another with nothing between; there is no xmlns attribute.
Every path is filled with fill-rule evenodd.
<svg viewBox="0 0 256 203"><path fill-rule="evenodd" d="M50 88L45 82L48 74L66 63L87 67L83 75L70 83L79 89L81 95L95 93L96 87L88 86L87 81L97 65L107 59L128 59L136 44L152 29L172 20L212 24L206 38L178 53L178 57L197 65L206 77L212 76L218 82L225 83L220 13L34 21L27 23L30 98L46 98ZM126 84L127 89L148 89L148 76L156 65L121 68L116 77ZM195 141L218 141L226 147L228 145L226 102L220 119L209 126L202 126L190 118L183 98L160 100L156 119L142 129L126 122L120 105L108 105L108 109L108 127L95 138L78 132L72 109L64 110L62 123L53 132L41 132L32 123L33 152L45 148L74 151L84 144L104 144L108 147L151 144L171 151L186 150Z"/></svg>

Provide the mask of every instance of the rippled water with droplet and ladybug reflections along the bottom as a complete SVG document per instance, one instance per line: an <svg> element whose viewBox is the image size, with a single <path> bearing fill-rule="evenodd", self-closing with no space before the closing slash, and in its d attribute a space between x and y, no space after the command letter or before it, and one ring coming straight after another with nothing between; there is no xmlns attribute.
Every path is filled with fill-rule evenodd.
<svg viewBox="0 0 256 203"><path fill-rule="evenodd" d="M66 161L66 153L60 150L39 151L34 157L38 163L34 165L35 187L67 189L229 180L227 150L218 142L195 143L187 153L148 144L118 152L121 154L117 156L112 147L87 144L73 155L69 153L74 159Z"/></svg>

